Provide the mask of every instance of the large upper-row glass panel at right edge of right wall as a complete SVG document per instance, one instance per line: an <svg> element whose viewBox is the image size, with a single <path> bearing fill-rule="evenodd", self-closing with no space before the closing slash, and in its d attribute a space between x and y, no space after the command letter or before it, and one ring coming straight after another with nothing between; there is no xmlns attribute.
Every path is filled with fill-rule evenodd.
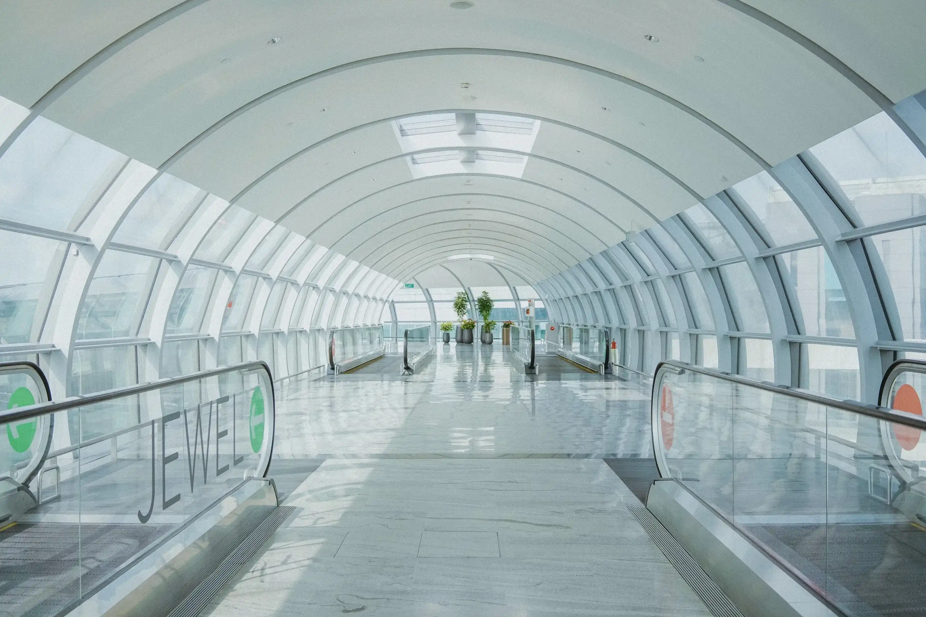
<svg viewBox="0 0 926 617"><path fill-rule="evenodd" d="M926 213L926 158L887 114L810 148L852 202L859 227Z"/></svg>

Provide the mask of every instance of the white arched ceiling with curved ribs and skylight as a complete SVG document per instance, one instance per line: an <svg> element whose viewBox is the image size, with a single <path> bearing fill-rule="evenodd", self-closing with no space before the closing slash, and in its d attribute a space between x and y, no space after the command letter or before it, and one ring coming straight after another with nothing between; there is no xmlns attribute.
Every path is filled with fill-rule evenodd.
<svg viewBox="0 0 926 617"><path fill-rule="evenodd" d="M450 4L9 0L0 94L453 286L556 274L926 88L920 0Z"/></svg>

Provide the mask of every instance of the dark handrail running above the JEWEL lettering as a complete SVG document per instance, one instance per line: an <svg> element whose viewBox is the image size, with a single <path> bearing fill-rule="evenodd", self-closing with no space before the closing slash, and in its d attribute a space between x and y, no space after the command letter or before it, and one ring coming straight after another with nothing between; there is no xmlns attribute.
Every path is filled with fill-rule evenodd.
<svg viewBox="0 0 926 617"><path fill-rule="evenodd" d="M276 401L275 392L273 391L273 374L270 373L270 367L263 360L256 360L253 362L244 362L242 364L232 364L231 366L219 366L219 368L213 368L208 371L200 371L199 373L191 373L190 375L165 377L163 379L149 381L144 384L109 389L104 390L103 392L96 392L94 394L87 394L84 396L72 396L62 401L49 401L36 403L34 405L29 405L28 407L18 407L16 409L7 410L6 412L0 413L0 424L16 422L17 420L27 420L29 418L44 415L45 413L64 412L69 409L94 405L100 402L114 401L116 399L122 399L133 394L144 394L144 392L169 388L170 386L179 386L190 381L197 381L199 379L206 379L208 377L225 375L226 373L234 373L236 371L249 373L260 369L263 369L267 372L267 375L269 376L270 396L274 397L273 400Z"/></svg>

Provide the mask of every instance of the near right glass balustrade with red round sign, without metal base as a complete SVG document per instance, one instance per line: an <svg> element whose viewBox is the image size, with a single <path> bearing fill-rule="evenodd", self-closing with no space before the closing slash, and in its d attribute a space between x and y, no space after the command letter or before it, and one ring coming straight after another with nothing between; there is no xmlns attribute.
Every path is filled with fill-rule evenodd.
<svg viewBox="0 0 926 617"><path fill-rule="evenodd" d="M926 365L888 374L885 407L660 364L659 472L850 615L926 606Z"/></svg>

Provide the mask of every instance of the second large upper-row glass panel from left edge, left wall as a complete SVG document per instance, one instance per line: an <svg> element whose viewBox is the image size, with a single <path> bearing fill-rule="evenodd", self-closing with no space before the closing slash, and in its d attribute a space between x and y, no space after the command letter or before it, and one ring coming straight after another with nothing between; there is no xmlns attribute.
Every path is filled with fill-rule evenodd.
<svg viewBox="0 0 926 617"><path fill-rule="evenodd" d="M139 198L113 241L166 250L191 209L206 195L192 184L164 174Z"/></svg>

